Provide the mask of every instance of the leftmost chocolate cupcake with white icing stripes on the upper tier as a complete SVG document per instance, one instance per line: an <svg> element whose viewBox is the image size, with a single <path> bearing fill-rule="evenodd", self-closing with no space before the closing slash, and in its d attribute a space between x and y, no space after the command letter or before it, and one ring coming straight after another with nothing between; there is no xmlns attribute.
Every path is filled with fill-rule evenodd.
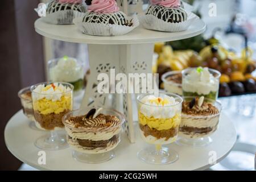
<svg viewBox="0 0 256 182"><path fill-rule="evenodd" d="M53 0L48 3L44 21L52 24L73 24L73 19L83 16L86 7L82 0Z"/></svg>

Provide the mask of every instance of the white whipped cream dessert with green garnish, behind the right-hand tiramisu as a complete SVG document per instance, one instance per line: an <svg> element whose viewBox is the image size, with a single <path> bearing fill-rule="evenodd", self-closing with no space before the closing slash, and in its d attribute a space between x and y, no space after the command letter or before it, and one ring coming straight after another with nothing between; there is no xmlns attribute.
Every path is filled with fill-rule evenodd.
<svg viewBox="0 0 256 182"><path fill-rule="evenodd" d="M216 100L221 73L215 69L187 68L182 71L184 97L201 97Z"/></svg>

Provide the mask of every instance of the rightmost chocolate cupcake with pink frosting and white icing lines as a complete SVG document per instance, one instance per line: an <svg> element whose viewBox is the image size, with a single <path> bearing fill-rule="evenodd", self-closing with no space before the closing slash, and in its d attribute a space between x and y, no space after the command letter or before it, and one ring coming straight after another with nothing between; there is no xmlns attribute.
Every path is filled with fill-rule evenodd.
<svg viewBox="0 0 256 182"><path fill-rule="evenodd" d="M147 29L177 32L187 30L196 18L195 14L187 13L180 0L151 0L141 22Z"/></svg>

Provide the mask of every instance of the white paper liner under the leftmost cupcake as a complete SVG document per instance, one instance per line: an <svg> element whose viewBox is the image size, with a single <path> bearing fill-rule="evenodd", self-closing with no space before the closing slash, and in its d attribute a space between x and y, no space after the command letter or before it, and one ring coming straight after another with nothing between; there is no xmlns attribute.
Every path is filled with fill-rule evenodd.
<svg viewBox="0 0 256 182"><path fill-rule="evenodd" d="M75 10L61 10L55 13L47 14L42 17L43 21L51 24L73 24L73 19L84 16L85 13L81 13Z"/></svg>

